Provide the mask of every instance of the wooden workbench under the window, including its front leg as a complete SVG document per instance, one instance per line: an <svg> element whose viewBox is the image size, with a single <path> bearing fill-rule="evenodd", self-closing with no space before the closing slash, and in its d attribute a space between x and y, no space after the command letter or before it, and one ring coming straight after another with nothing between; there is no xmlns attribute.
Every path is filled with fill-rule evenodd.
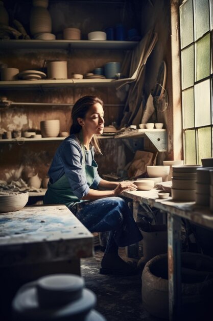
<svg viewBox="0 0 213 321"><path fill-rule="evenodd" d="M168 271L170 321L179 320L181 311L181 217L213 229L213 213L195 202L175 202L172 197L159 199L156 188L150 191L128 191L122 195L133 200L133 215L137 217L139 204L160 209L168 218Z"/></svg>

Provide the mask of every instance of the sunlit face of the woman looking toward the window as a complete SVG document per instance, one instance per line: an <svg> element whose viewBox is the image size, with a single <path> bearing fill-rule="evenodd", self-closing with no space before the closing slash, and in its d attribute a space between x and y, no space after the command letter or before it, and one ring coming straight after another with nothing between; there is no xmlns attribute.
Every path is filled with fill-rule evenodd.
<svg viewBox="0 0 213 321"><path fill-rule="evenodd" d="M82 130L89 135L101 135L104 130L104 110L101 104L94 104L89 108L85 118L81 119Z"/></svg>

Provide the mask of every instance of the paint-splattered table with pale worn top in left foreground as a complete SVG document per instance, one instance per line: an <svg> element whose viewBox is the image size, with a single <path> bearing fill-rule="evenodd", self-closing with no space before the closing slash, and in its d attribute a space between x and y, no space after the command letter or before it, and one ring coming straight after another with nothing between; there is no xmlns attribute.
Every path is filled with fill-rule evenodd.
<svg viewBox="0 0 213 321"><path fill-rule="evenodd" d="M0 222L0 267L72 260L80 271L80 258L92 256L92 234L64 205L1 213Z"/></svg>

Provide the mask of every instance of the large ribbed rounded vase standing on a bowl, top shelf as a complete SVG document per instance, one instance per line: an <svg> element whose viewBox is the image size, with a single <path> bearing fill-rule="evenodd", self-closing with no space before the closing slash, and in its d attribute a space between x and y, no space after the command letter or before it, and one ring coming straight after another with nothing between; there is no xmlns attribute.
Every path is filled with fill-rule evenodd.
<svg viewBox="0 0 213 321"><path fill-rule="evenodd" d="M52 20L49 11L42 7L33 7L30 16L30 32L32 35L36 33L51 33Z"/></svg>

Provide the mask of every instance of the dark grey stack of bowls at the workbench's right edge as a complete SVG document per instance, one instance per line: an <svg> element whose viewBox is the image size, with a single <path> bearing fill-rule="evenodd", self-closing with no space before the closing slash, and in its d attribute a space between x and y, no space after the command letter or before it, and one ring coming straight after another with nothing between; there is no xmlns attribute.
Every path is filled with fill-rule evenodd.
<svg viewBox="0 0 213 321"><path fill-rule="evenodd" d="M210 173L212 167L201 167L197 169L196 182L196 204L209 205L210 200ZM212 195L213 196L213 195Z"/></svg>

